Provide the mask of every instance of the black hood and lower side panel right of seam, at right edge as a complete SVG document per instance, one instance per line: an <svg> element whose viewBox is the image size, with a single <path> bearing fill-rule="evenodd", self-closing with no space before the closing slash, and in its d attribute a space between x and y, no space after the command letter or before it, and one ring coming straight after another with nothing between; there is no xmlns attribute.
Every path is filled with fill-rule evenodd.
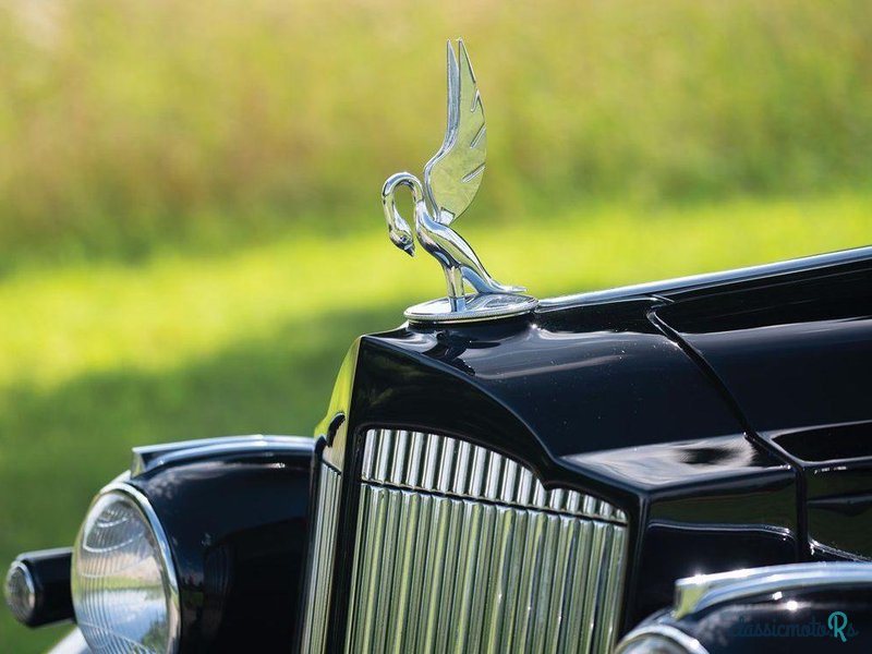
<svg viewBox="0 0 872 654"><path fill-rule="evenodd" d="M806 549L872 558L872 264L690 293L657 316L801 470Z"/></svg>

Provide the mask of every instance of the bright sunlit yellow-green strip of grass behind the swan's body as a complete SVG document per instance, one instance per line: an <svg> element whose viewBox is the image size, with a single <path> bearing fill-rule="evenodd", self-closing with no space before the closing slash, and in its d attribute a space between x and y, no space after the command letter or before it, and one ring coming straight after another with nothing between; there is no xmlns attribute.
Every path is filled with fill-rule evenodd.
<svg viewBox="0 0 872 654"><path fill-rule="evenodd" d="M742 201L652 215L600 206L523 225L458 228L492 272L554 295L764 263L872 239L872 196ZM378 217L375 216L378 220ZM0 388L84 373L184 366L240 339L330 312L401 307L443 293L426 254L408 259L374 225L346 238L289 234L220 256L47 268L0 282ZM397 314L400 320L400 314ZM312 339L319 334L313 332Z"/></svg>

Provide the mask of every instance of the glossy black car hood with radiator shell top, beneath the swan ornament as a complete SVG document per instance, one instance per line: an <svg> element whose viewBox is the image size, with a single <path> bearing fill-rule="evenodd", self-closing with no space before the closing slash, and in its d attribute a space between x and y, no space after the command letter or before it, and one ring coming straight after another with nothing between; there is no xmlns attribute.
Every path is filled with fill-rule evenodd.
<svg viewBox="0 0 872 654"><path fill-rule="evenodd" d="M870 262L872 249L823 255L718 274L714 282L547 301L521 317L411 323L366 336L352 348L343 370L353 374L340 375L319 433L330 440L330 421L350 414L353 431L457 435L540 472L596 468L614 479L614 461L586 455L634 448L650 457L655 450L642 448L856 425L872 413L863 376L872 363ZM736 458L732 445L673 448L659 458L670 461L668 480L687 476L688 465L707 474L717 468L710 459ZM752 449L742 456L753 463ZM638 476L628 470L637 468L620 475Z"/></svg>

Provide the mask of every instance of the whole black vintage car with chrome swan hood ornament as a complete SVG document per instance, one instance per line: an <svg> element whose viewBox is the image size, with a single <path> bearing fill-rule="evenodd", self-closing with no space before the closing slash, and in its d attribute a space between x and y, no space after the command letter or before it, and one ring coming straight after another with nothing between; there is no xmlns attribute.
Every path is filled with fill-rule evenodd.
<svg viewBox="0 0 872 654"><path fill-rule="evenodd" d="M14 615L74 620L55 654L870 651L872 247L536 302L450 227L485 131L448 52L383 190L448 295L352 344L314 439L136 448Z"/></svg>

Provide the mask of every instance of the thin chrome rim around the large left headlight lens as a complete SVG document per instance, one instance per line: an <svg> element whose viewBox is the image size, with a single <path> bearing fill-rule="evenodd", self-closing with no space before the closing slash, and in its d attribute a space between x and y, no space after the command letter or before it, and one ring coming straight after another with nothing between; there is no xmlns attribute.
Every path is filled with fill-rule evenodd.
<svg viewBox="0 0 872 654"><path fill-rule="evenodd" d="M143 514L148 529L152 531L152 534L155 537L162 571L167 577L167 585L169 591L167 611L169 641L167 651L170 653L179 652L182 635L182 610L181 597L179 593L179 580L175 574L175 560L172 556L172 548L170 547L170 542L167 537L166 531L164 530L164 525L160 523L160 519L157 516L157 511L155 511L155 508L152 506L148 497L132 484L128 483L126 481L112 482L100 488L100 491L94 496L94 499L90 500L88 509L85 511L85 519L82 521L82 526L76 535L76 547L73 548L70 580L72 581L75 578L75 565L77 559L78 543L82 540L82 530L85 529L87 519L96 504L104 497L112 494L122 495L126 499L131 500L133 506Z"/></svg>

